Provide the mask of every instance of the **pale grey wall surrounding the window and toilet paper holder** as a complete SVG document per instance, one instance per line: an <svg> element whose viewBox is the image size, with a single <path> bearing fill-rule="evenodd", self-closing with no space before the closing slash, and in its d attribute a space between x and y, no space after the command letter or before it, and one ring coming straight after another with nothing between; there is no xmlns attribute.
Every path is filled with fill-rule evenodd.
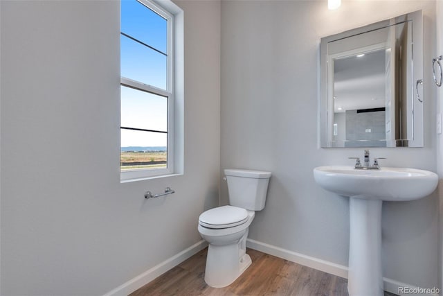
<svg viewBox="0 0 443 296"><path fill-rule="evenodd" d="M102 295L201 239L219 195L220 4L177 4L185 174L120 184L119 2L0 1L1 295Z"/></svg>

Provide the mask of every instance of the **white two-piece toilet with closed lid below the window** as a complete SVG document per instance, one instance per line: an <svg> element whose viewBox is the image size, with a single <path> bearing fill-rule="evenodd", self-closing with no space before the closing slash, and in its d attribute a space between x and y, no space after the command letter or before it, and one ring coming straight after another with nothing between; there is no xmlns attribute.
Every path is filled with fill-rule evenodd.
<svg viewBox="0 0 443 296"><path fill-rule="evenodd" d="M199 217L199 233L209 243L205 281L226 287L251 265L246 238L255 211L266 201L270 172L225 169L229 205L209 209Z"/></svg>

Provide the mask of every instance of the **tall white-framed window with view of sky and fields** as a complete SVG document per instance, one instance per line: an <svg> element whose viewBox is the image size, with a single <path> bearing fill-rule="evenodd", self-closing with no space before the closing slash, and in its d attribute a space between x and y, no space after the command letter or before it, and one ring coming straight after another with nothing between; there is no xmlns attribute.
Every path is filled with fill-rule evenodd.
<svg viewBox="0 0 443 296"><path fill-rule="evenodd" d="M177 172L173 21L153 1L121 1L121 180Z"/></svg>

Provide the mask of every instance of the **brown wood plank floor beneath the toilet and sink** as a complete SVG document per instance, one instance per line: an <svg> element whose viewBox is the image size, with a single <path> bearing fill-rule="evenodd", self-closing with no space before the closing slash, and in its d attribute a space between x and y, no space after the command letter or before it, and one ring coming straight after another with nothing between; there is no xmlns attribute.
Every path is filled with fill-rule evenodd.
<svg viewBox="0 0 443 296"><path fill-rule="evenodd" d="M212 288L204 281L206 252L201 250L130 296L147 295L297 295L346 296L347 279L248 249L252 264L233 284ZM394 295L385 293L385 295Z"/></svg>

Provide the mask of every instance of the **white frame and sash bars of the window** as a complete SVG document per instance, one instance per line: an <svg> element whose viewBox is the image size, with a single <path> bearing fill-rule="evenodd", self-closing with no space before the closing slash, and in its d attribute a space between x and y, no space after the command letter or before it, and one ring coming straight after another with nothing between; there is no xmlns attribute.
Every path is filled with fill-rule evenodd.
<svg viewBox="0 0 443 296"><path fill-rule="evenodd" d="M125 1L125 0L122 0ZM168 23L168 49L167 49L167 89L160 89L158 87L154 87L152 85L147 85L143 82L132 80L130 78L126 78L121 76L120 73L120 87L130 87L132 89L136 89L141 92L147 92L150 94L154 94L157 96L163 96L166 100L168 100L168 130L167 130L167 167L166 168L134 168L127 171L121 171L120 168L120 182L128 182L132 180L145 180L150 179L152 177L163 177L167 175L172 175L176 173L175 170L175 155L177 154L177 148L175 146L175 108L176 105L174 99L174 78L176 77L176 73L174 73L174 59L176 58L174 52L174 15L166 10L165 8L159 6L152 0L137 0L139 3L146 6L147 9L150 9L156 14L160 15L164 19L167 20ZM183 11L183 10L182 10ZM120 32L121 35L121 32ZM120 45L121 50L121 45ZM121 106L121 99L120 99ZM121 114L120 114L121 115ZM120 137L121 137L121 129L122 126L120 124ZM129 128L129 127L128 127ZM120 140L120 153L121 153L121 140ZM119 162L120 163L120 162Z"/></svg>

